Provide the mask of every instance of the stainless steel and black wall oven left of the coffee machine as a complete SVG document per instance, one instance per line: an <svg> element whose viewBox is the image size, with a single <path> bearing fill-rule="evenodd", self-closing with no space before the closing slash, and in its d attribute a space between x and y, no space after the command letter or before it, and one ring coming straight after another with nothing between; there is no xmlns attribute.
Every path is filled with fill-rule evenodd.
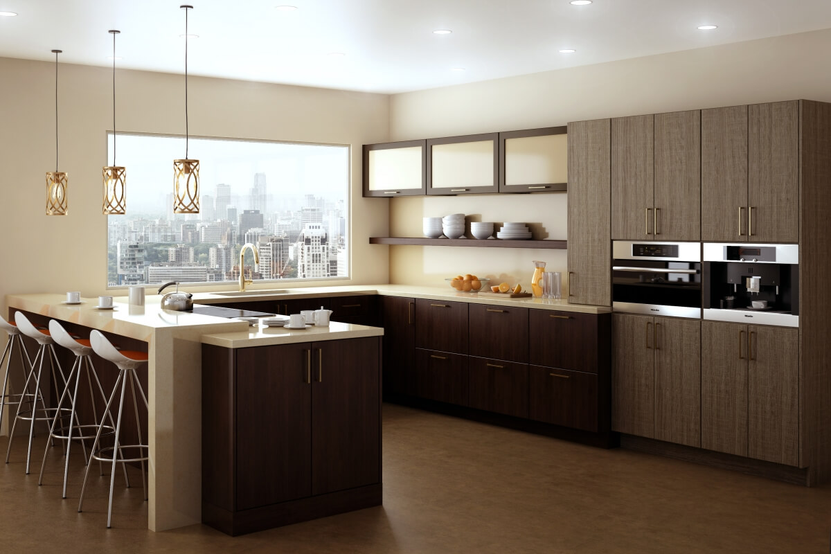
<svg viewBox="0 0 831 554"><path fill-rule="evenodd" d="M701 243L612 243L612 310L701 318Z"/></svg>

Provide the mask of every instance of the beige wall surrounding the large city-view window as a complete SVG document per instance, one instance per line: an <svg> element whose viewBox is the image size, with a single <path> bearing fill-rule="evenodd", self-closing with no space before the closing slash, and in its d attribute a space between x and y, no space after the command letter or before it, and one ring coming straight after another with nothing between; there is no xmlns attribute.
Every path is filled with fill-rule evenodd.
<svg viewBox="0 0 831 554"><path fill-rule="evenodd" d="M106 294L101 166L112 126L111 70L61 65L59 71L60 169L69 174L70 213L47 217L45 173L55 164L55 66L0 58L3 315L9 293ZM118 130L184 133L183 76L120 70L117 84ZM361 198L361 145L387 139L388 96L198 77L190 77L189 90L192 135L352 145L352 280L337 284L386 281L386 250L366 241L387 233L386 200ZM172 159L170 164L172 189ZM129 203L137 191L130 189L127 171ZM207 190L211 185L204 184Z"/></svg>

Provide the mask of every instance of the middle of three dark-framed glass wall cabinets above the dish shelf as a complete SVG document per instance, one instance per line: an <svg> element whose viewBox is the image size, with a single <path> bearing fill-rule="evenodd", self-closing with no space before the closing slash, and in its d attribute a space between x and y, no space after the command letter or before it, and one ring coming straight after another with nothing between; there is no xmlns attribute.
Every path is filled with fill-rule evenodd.
<svg viewBox="0 0 831 554"><path fill-rule="evenodd" d="M499 192L499 133L427 140L427 194Z"/></svg>

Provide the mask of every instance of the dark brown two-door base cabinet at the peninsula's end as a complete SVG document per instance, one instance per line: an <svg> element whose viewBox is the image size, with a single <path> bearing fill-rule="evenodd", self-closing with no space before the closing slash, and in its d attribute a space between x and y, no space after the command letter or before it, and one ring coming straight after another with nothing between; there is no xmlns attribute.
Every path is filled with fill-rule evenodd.
<svg viewBox="0 0 831 554"><path fill-rule="evenodd" d="M381 338L203 346L202 519L230 535L381 504Z"/></svg>

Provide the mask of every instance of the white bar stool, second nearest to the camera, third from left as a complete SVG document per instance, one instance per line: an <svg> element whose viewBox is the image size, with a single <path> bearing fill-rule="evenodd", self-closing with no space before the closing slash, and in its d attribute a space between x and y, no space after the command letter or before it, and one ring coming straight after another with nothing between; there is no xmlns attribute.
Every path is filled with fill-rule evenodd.
<svg viewBox="0 0 831 554"><path fill-rule="evenodd" d="M57 411L55 413L55 417L52 419L52 427L49 429L49 436L52 439L66 439L66 462L64 463L63 469L63 494L61 498L66 498L66 479L69 476L69 453L71 452L72 448L72 441L73 440L80 440L81 441L81 448L84 450L84 462L89 463L90 460L86 456L86 447L84 446L85 439L95 439L97 429L99 427L98 422L101 421L101 427L107 429L107 434L112 434L116 430L116 424L113 422L112 414L110 412L106 412L103 414L101 419L98 419L98 414L96 412L96 396L95 393L92 391L92 380L95 379L98 393L100 398L103 402L106 403L106 395L104 394L104 388L101 386L101 381L98 380L98 374L96 372L95 365L92 365L92 360L90 355L92 354L92 347L90 345L90 341L86 339L76 339L72 337L66 329L61 326L55 320L49 321L49 332L52 335L52 340L57 342L60 346L70 350L73 354L75 354L75 361L72 362L72 369L69 371L69 376L66 378L66 388L63 390L63 394L61 395L61 400L57 403ZM76 405L78 401L78 385L81 384L81 370L86 369L86 383L90 387L90 399L92 403L92 420L96 422L96 424L80 424L80 420L76 415ZM72 384L72 380L75 380L75 387L73 392L71 393L70 397L70 387ZM63 406L64 400L69 400L70 402L70 421L77 422L77 424L71 424L66 427L61 427L59 429L55 429L57 426L58 414L61 413L61 407ZM109 425L104 425L104 419L108 418L110 421ZM84 429L95 429L89 431L89 434L84 434ZM37 480L38 485L43 484L43 469L46 467L47 463L47 454L49 453L49 444L47 443L47 448L43 451L43 461L41 463L41 475L40 478ZM101 461L98 462L99 468L101 469L101 475L104 474L103 469L101 468ZM127 487L130 487L130 479L127 477L127 468L124 468L124 478L127 482Z"/></svg>

